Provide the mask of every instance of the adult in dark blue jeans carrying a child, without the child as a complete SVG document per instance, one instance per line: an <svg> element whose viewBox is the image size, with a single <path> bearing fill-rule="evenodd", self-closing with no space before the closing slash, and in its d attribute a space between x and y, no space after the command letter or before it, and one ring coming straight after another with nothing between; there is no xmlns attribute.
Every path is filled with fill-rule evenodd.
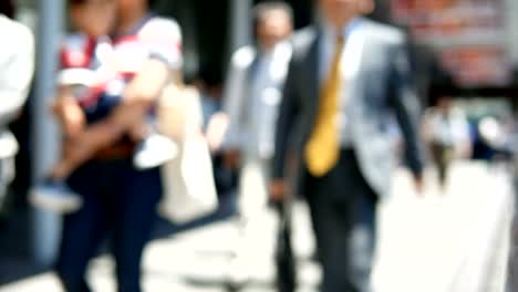
<svg viewBox="0 0 518 292"><path fill-rule="evenodd" d="M64 217L56 272L66 291L90 291L87 264L110 236L118 291L141 291L141 259L156 218L162 184L157 167L135 164L133 154L139 139L128 128L147 121L164 86L179 75L180 31L175 21L151 14L147 0L71 1L97 9L97 15L115 9L117 21L111 35L123 81L117 79L116 86L108 82L110 86L101 87L87 103L72 97L75 103L66 104L75 106L85 121L72 143L89 145L94 155L68 178L83 205ZM86 60L95 62L103 50L94 43L94 58ZM74 121L64 111L56 112L66 129Z"/></svg>

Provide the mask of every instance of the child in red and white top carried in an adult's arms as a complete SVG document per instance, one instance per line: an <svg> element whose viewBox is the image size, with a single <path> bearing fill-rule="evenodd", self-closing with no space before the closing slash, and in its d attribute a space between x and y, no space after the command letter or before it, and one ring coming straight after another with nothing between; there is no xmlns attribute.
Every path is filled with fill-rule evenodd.
<svg viewBox="0 0 518 292"><path fill-rule="evenodd" d="M51 174L30 196L37 207L63 213L76 211L82 205L81 196L66 186L66 178L96 150L118 138L116 133L96 125L87 132L89 135L77 139L87 125L108 116L108 123L118 125L118 132L125 132L138 143L134 153L138 169L157 167L176 154L176 145L157 133L153 109L147 121L132 115L135 104L131 105L131 101L122 97L126 84L136 73L127 62L133 58L124 54L132 42L138 48L139 40L112 42L108 34L115 24L115 1L70 1L70 17L79 32L69 35L61 48L60 94L54 104L56 116L69 122L60 121L66 125L63 152ZM137 107L137 112L141 108Z"/></svg>

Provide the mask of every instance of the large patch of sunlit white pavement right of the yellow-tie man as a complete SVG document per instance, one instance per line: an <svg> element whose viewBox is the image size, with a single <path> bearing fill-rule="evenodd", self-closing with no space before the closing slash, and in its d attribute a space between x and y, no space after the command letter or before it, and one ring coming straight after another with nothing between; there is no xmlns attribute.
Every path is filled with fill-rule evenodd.
<svg viewBox="0 0 518 292"><path fill-rule="evenodd" d="M408 191L406 173L396 179L380 218L376 291L503 291L510 178L499 167L460 163L441 195L432 177L422 197Z"/></svg>

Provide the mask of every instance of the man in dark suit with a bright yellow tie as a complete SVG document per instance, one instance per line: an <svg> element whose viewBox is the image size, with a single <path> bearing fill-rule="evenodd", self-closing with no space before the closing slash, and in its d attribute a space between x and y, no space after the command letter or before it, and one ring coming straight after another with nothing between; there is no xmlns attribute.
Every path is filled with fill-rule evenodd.
<svg viewBox="0 0 518 292"><path fill-rule="evenodd" d="M322 291L371 291L376 204L388 196L397 160L394 123L422 187L418 98L404 33L360 17L372 0L315 1L320 22L293 38L271 198L287 197L286 159L298 149L291 190L310 206Z"/></svg>

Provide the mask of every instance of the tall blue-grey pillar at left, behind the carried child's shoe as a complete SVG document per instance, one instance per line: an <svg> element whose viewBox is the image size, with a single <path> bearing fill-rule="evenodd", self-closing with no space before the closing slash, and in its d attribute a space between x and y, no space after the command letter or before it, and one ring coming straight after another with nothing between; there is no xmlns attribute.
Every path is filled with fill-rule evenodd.
<svg viewBox="0 0 518 292"><path fill-rule="evenodd" d="M62 0L38 1L38 61L35 91L32 101L32 180L42 178L55 163L60 144L58 127L50 115L49 104L55 93L58 46L63 31ZM60 217L42 210L33 211L32 253L49 264L55 259L61 228Z"/></svg>

